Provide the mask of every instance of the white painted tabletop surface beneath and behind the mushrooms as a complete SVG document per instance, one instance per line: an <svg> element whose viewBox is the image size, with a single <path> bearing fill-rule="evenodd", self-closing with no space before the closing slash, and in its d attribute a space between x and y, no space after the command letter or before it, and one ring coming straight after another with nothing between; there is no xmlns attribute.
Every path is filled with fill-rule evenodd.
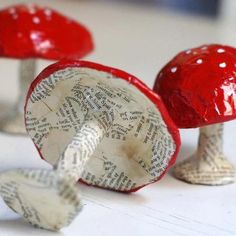
<svg viewBox="0 0 236 236"><path fill-rule="evenodd" d="M15 0L1 0L0 7ZM153 84L157 70L179 50L207 42L234 44L229 21L181 16L149 7L103 1L35 1L52 6L86 24L97 50L88 59L129 71ZM236 44L235 44L236 46ZM0 106L17 95L17 60L0 60ZM40 61L38 71L48 62ZM197 130L182 130L179 160L196 147ZM0 170L48 168L29 138L0 134ZM225 153L236 165L236 121L225 127ZM37 230L19 219L0 200L0 236L236 235L236 184L196 186L167 175L131 195L78 185L84 210L60 233Z"/></svg>

